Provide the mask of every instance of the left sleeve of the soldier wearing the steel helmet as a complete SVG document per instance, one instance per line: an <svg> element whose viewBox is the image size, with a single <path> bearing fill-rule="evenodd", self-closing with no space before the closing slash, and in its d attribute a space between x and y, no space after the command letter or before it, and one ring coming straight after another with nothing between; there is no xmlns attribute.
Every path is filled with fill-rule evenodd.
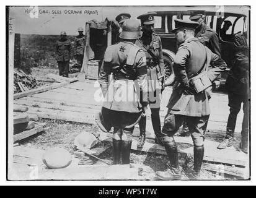
<svg viewBox="0 0 256 198"><path fill-rule="evenodd" d="M105 96L107 93L108 88L108 76L112 72L112 64L111 64L111 51L107 49L104 54L104 60L102 62L102 66L100 67L100 73L99 73L99 84L102 88L102 93Z"/></svg>

